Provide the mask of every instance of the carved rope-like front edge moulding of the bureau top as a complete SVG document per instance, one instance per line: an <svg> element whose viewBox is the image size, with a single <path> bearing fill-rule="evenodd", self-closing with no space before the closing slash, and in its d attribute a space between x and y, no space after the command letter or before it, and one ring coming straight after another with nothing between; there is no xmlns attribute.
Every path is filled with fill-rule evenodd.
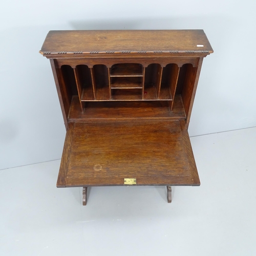
<svg viewBox="0 0 256 256"><path fill-rule="evenodd" d="M164 51L76 51L76 52L44 52L44 51L39 51L40 54L42 55L50 55L50 54L141 54L141 53L213 53L214 51L204 51L204 50L164 50Z"/></svg>

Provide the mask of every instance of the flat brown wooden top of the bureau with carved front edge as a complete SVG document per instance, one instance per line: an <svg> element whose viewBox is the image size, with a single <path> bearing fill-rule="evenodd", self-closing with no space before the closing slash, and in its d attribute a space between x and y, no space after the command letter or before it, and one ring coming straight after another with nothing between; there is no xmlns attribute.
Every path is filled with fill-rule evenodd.
<svg viewBox="0 0 256 256"><path fill-rule="evenodd" d="M50 31L41 54L212 53L203 30Z"/></svg>

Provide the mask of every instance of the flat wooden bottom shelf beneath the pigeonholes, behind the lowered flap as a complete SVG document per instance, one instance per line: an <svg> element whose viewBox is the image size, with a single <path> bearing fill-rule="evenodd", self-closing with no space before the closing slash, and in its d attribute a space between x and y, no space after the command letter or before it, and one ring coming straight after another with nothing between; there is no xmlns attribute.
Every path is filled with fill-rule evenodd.
<svg viewBox="0 0 256 256"><path fill-rule="evenodd" d="M79 99L73 97L69 121L99 121L116 119L185 119L182 99L177 95L173 111L170 111L167 101L96 101L87 102L84 112L79 109Z"/></svg>

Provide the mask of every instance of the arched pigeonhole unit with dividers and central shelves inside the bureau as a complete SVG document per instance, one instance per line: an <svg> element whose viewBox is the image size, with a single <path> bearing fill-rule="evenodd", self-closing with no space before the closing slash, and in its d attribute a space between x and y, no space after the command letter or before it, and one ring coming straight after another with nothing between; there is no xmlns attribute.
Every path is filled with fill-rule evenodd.
<svg viewBox="0 0 256 256"><path fill-rule="evenodd" d="M133 59L134 61L134 59ZM115 63L72 65L68 59L56 63L59 76L70 94L79 97L81 110L89 101L168 101L170 111L184 79L195 80L197 63Z"/></svg>

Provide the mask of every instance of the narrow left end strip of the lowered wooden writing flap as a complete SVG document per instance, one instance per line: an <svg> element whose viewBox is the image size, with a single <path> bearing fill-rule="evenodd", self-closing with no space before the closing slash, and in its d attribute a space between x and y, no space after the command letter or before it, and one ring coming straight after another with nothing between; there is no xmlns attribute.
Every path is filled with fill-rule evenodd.
<svg viewBox="0 0 256 256"><path fill-rule="evenodd" d="M72 145L73 134L74 134L74 123L69 123L65 144L63 147L60 167L59 167L57 187L66 187L66 177L67 177L67 172L69 167L70 149Z"/></svg>

